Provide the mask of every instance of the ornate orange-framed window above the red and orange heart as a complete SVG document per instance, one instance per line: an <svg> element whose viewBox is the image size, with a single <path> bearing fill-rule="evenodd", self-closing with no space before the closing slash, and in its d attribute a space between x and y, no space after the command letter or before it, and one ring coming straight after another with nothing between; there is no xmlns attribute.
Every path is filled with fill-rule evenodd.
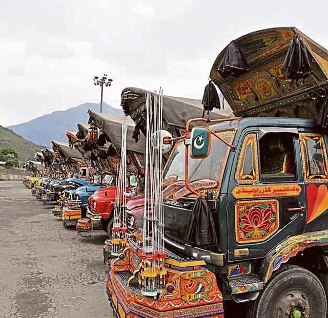
<svg viewBox="0 0 328 318"><path fill-rule="evenodd" d="M319 134L300 134L304 181L327 181L327 153Z"/></svg>

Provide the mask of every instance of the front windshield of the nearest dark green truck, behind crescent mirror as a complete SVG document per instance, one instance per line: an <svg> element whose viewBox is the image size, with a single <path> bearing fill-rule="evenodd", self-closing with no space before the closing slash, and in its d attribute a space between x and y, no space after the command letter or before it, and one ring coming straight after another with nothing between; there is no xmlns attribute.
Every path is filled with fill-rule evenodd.
<svg viewBox="0 0 328 318"><path fill-rule="evenodd" d="M221 130L216 133L224 140L232 143L234 130ZM210 155L204 159L193 159L189 156L189 181L212 179L221 183L224 167L230 152L230 147L221 140L212 136ZM180 141L176 144L165 167L163 179L175 176L177 180L185 180L185 144Z"/></svg>

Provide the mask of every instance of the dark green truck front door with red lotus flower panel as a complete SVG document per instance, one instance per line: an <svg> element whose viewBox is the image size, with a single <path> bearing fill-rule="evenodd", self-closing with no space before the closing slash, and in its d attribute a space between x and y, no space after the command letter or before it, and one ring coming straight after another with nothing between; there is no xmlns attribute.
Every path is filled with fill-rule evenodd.
<svg viewBox="0 0 328 318"><path fill-rule="evenodd" d="M296 129L245 130L228 192L229 260L262 258L305 228L305 194Z"/></svg>

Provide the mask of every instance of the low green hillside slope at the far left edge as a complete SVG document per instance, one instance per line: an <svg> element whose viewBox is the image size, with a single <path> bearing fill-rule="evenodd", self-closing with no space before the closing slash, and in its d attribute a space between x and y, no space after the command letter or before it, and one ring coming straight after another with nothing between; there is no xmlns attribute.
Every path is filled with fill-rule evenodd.
<svg viewBox="0 0 328 318"><path fill-rule="evenodd" d="M42 149L41 146L26 140L10 129L0 126L0 149L6 147L14 149L18 153L19 160L22 163L25 163L28 159L33 160L34 153Z"/></svg>

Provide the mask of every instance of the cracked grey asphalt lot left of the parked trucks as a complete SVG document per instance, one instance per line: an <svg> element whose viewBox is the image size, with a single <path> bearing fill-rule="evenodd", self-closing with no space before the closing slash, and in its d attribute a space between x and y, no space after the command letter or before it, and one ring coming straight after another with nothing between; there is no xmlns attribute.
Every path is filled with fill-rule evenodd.
<svg viewBox="0 0 328 318"><path fill-rule="evenodd" d="M0 181L0 217L0 317L113 317L105 232L64 228L20 181Z"/></svg>

